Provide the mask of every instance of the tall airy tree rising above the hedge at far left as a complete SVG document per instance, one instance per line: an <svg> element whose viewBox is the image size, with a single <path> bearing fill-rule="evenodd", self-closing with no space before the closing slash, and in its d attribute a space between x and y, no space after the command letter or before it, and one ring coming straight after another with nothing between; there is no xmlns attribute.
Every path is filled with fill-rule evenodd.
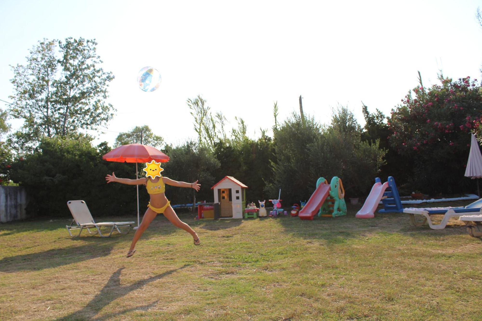
<svg viewBox="0 0 482 321"><path fill-rule="evenodd" d="M55 50L58 45L60 59ZM14 104L11 116L24 125L10 137L20 151L32 151L42 137L66 137L80 129L96 129L113 117L107 104L112 73L98 67L97 42L83 38L39 41L27 65L11 66Z"/></svg>

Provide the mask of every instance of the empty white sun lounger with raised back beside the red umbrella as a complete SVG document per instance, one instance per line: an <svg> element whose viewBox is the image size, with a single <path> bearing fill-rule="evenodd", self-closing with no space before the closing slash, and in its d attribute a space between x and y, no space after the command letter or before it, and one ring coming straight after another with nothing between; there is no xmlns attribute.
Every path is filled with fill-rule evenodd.
<svg viewBox="0 0 482 321"><path fill-rule="evenodd" d="M108 238L112 235L114 228L120 234L127 234L131 230L131 227L134 225L135 222L102 222L102 223L95 223L94 218L92 218L92 214L87 207L87 204L84 201L68 201L67 202L68 209L70 213L74 217L72 223L70 225L66 225L68 234L72 237L80 236L82 229L86 228L89 234L99 234L103 238ZM74 224L75 223L75 224ZM111 227L108 235L102 234L100 228L101 227ZM127 231L121 232L120 228L128 227ZM90 229L96 229L91 231ZM70 231L79 230L79 234L72 235Z"/></svg>

